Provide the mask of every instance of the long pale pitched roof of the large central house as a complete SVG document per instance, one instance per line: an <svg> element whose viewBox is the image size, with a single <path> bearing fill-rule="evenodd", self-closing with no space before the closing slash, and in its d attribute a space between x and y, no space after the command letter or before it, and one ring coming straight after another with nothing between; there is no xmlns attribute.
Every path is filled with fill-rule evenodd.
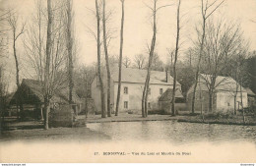
<svg viewBox="0 0 256 166"><path fill-rule="evenodd" d="M114 82L118 82L118 67L113 67L111 69L111 78ZM125 83L145 83L147 77L147 70L140 70L134 68L122 68L122 81ZM150 83L154 84L173 84L173 79L171 76L168 77L168 82L166 82L166 72L151 71ZM177 82L177 84L180 84Z"/></svg>

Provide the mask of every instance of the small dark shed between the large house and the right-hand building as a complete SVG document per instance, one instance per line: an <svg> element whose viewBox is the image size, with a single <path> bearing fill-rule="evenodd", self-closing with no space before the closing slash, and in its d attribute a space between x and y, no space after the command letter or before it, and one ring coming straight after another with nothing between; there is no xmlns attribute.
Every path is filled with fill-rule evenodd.
<svg viewBox="0 0 256 166"><path fill-rule="evenodd" d="M172 88L167 88L161 94L159 99L160 109L165 114L169 114L171 112L172 91ZM186 99L182 95L179 88L176 88L175 91L175 109L176 112L186 110Z"/></svg>

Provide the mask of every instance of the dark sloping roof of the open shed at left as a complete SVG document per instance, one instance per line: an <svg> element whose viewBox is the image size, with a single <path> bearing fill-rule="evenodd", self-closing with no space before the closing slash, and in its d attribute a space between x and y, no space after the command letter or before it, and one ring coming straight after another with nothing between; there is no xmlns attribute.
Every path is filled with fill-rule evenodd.
<svg viewBox="0 0 256 166"><path fill-rule="evenodd" d="M43 93L42 93L42 83L35 80L24 79L23 83L27 87L29 87L32 92L38 97L40 102L43 102ZM75 89L74 89L75 91ZM55 95L52 96L51 101L53 102L62 102L68 103L69 102L69 90L67 87L60 88L56 90ZM73 101L75 103L81 103L81 99L79 96L74 92L73 93Z"/></svg>

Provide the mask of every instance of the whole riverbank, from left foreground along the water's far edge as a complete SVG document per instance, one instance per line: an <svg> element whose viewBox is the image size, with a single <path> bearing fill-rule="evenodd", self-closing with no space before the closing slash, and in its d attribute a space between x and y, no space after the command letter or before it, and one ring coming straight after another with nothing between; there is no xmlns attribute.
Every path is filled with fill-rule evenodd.
<svg viewBox="0 0 256 166"><path fill-rule="evenodd" d="M223 124L223 125L243 125L256 126L253 116L246 116L243 123L242 116L232 115L205 115L204 121L201 115L183 114L177 116L170 115L149 115L142 118L139 114L120 114L118 116L101 118L100 115L90 115L88 118L78 116L76 126L73 128L50 128L43 130L41 121L19 122L13 121L6 124L4 131L1 131L0 141L6 140L101 140L111 139L103 132L96 132L87 128L87 124L109 123L109 122L143 122L143 121L176 121L186 123L203 124ZM124 124L125 125L125 124Z"/></svg>

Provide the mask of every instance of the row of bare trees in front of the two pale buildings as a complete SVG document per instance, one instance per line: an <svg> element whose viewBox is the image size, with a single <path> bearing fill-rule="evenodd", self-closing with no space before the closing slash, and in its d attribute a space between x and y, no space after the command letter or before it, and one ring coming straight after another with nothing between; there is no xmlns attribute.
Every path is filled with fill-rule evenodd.
<svg viewBox="0 0 256 166"><path fill-rule="evenodd" d="M224 76L232 76L233 73L230 73L231 66L241 66L241 60L246 59L247 54L247 45L246 41L242 37L242 32L240 27L237 24L230 24L225 21L224 17L219 19L215 19L214 14L218 9L224 4L224 0L215 0L215 1L208 1L208 0L201 0L200 5L200 14L201 14L201 21L198 22L195 31L196 31L196 40L193 41L192 47L185 51L185 54L188 58L188 63L184 64L178 60L180 54L180 33L182 26L180 25L181 18L180 16L180 8L181 8L181 0L178 0L176 3L176 40L175 46L173 49L168 49L170 63L163 64L160 61L159 55L156 53L156 42L157 42L157 34L158 34L158 25L157 25L157 17L158 12L161 8L172 6L171 5L163 5L158 6L159 0L153 0L152 5L146 6L151 10L152 16L152 28L153 28L153 36L151 40L151 44L148 45L148 57L144 56L143 54L135 55L134 62L132 63L131 59L128 57L122 58L122 44L123 44L123 16L124 16L124 2L122 2L122 20L121 20L121 32L120 32L120 54L119 56L109 56L107 52L107 45L105 39L105 2L100 1L97 4L96 1L96 18L97 18L97 76L99 77L99 81L101 80L101 63L100 63L100 19L102 18L102 30L103 30L103 44L104 44L104 54L105 54L105 67L107 71L107 112L109 114L109 103L110 103L110 95L109 95L109 64L113 65L114 63L118 63L119 66L119 85L118 85L118 93L117 93L117 105L116 105L116 115L118 114L118 106L119 106L119 96L120 96L120 80L121 80L121 70L122 65L126 68L133 67L138 69L146 69L147 70L147 77L144 84L143 94L142 94L142 116L147 117L148 115L148 89L150 84L150 76L152 70L170 70L171 75L173 76L173 93L172 93L172 101L171 102L171 112L172 115L175 115L175 89L176 89L176 82L180 82L182 84L182 89L184 92L188 90L188 88L194 84L193 90L193 101L192 101L192 113L195 112L195 94L197 89L197 83L199 79L200 73L204 72L205 74L209 74L212 77L210 78L211 82L209 82L209 110L212 110L213 107L213 94L215 92L216 86L216 79L220 75ZM102 6L102 7L101 7ZM101 9L102 8L102 9ZM102 11L102 13L100 13ZM101 16L102 15L102 16ZM238 61L237 56L240 56L240 60ZM235 59L235 61L233 61ZM233 63L232 63L233 62ZM235 64L234 62L239 62L239 64ZM229 65L226 65L229 64ZM181 67L182 66L182 67ZM227 67L228 66L228 67ZM233 69L233 68L232 68ZM236 68L237 69L237 68ZM226 71L226 73L224 73ZM228 71L228 72L227 72ZM233 77L236 81L239 79ZM238 82L242 84L241 82ZM102 110L102 117L104 115L104 93L103 93L103 83L100 82L101 87L101 110Z"/></svg>

